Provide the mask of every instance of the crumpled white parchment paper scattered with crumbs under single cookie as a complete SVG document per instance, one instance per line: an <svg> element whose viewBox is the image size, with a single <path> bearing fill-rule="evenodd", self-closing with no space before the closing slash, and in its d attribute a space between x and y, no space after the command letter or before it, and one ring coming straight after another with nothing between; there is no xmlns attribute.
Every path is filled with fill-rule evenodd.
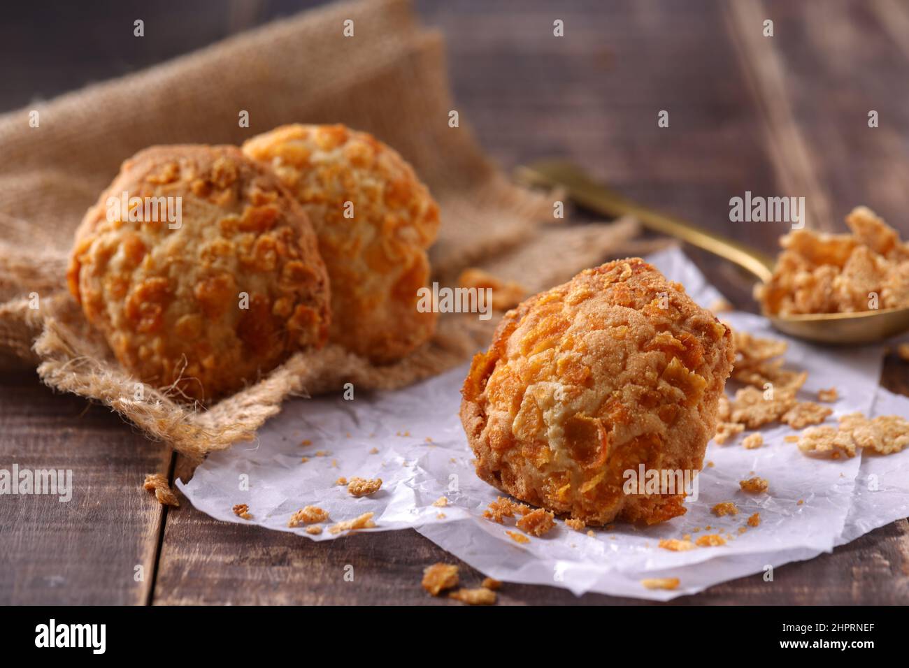
<svg viewBox="0 0 909 668"><path fill-rule="evenodd" d="M680 251L648 259L683 283L698 303L708 306L719 296ZM786 338L753 314L723 316L752 334L788 341L788 365L808 372L800 399L816 400L818 389L836 387L840 398L830 404L834 415L826 424L854 411L909 416L909 399L878 386L880 347L817 347ZM713 465L704 467L698 498L686 501L688 512L681 517L653 527L616 523L592 536L560 521L542 538L514 543L505 533L513 527L483 518L498 493L475 476L457 416L467 366L397 392L355 390L353 400L337 395L291 401L260 431L258 443L211 454L190 483L178 486L196 508L226 522L252 522L324 541L339 534L326 530L314 536L303 527L290 529L291 514L318 505L330 513L327 529L373 512L377 527L368 531L413 527L499 580L655 600L763 574L768 565L812 558L909 515L909 451L812 459L784 441L792 429L772 425L761 430L764 446L755 450L745 450L741 436L725 445L708 445L706 461ZM734 389L730 384L727 391L733 394ZM308 461L302 462L303 457ZM738 481L753 475L769 480L766 494L741 492ZM342 476L379 477L382 489L355 499L335 484ZM433 505L441 496L446 507ZM740 513L714 516L710 509L723 501L733 501ZM253 518L235 516L235 503L247 503ZM761 525L739 533L752 513L761 513ZM685 533L693 539L720 533L728 540L723 546L679 553L657 547L661 539ZM674 591L644 588L641 580L654 577L681 582Z"/></svg>

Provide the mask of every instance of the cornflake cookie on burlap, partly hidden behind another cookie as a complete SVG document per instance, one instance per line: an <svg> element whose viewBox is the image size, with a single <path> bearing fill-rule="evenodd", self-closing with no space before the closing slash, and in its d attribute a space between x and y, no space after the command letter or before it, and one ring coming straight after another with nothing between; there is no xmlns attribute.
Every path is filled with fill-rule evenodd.
<svg viewBox="0 0 909 668"><path fill-rule="evenodd" d="M417 310L439 207L414 170L372 135L344 125L285 125L243 145L269 165L309 215L332 290L331 340L375 363L432 336Z"/></svg>

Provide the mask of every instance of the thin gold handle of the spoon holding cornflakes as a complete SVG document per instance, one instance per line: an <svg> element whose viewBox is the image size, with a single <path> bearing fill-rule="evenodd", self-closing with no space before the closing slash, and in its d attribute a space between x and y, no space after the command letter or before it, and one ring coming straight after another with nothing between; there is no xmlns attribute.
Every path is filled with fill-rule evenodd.
<svg viewBox="0 0 909 668"><path fill-rule="evenodd" d="M597 214L608 217L631 214L644 227L719 255L743 267L764 283L770 280L773 273L774 261L770 256L682 218L633 202L611 188L596 183L583 169L571 163L544 160L517 167L514 175L519 182L527 185L561 186L575 203Z"/></svg>

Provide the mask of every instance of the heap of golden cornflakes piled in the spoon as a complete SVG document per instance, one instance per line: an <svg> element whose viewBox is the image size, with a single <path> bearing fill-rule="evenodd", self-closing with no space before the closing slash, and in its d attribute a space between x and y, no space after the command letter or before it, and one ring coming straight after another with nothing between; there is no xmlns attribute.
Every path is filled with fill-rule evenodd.
<svg viewBox="0 0 909 668"><path fill-rule="evenodd" d="M874 212L858 206L846 216L852 234L794 230L780 239L783 253L767 284L754 288L768 314L867 311L909 305L909 244Z"/></svg>

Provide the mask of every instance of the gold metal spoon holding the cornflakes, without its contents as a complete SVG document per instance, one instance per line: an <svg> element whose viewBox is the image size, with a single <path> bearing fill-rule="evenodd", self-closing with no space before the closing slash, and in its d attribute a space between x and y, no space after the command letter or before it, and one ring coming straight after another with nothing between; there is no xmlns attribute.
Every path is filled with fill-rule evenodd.
<svg viewBox="0 0 909 668"><path fill-rule="evenodd" d="M576 204L596 214L615 218L631 214L644 227L681 239L743 267L762 283L770 280L774 261L769 255L698 227L673 215L661 214L596 183L577 165L543 160L517 167L520 183L564 188ZM764 313L785 334L824 344L870 344L909 330L909 308L886 308L854 314L774 315Z"/></svg>

